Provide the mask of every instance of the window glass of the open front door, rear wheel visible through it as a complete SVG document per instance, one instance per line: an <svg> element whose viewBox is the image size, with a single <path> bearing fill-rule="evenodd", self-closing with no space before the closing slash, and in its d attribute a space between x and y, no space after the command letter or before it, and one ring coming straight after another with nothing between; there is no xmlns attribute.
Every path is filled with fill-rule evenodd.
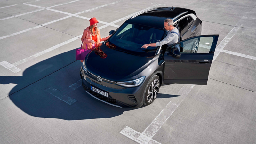
<svg viewBox="0 0 256 144"><path fill-rule="evenodd" d="M212 36L196 37L184 40L180 43L174 44L167 48L170 52L172 48L179 47L180 53L209 53L213 44L214 38Z"/></svg>

